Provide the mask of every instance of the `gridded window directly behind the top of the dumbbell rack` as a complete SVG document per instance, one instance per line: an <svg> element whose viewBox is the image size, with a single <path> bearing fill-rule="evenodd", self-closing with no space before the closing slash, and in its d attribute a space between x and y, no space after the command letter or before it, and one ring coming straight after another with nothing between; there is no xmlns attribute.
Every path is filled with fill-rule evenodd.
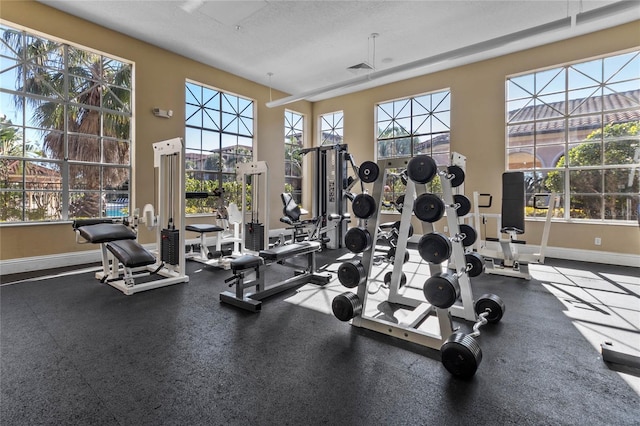
<svg viewBox="0 0 640 426"><path fill-rule="evenodd" d="M377 158L413 157L426 154L439 166L449 165L451 134L451 94L449 90L427 93L376 106ZM391 170L396 174L400 170ZM386 201L404 194L402 179L391 175L386 185ZM429 183L429 191L441 192L440 179Z"/></svg>

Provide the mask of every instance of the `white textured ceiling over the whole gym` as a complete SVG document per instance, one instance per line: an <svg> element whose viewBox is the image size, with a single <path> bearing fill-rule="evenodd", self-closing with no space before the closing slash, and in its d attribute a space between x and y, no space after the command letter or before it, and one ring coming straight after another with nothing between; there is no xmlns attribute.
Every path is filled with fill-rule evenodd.
<svg viewBox="0 0 640 426"><path fill-rule="evenodd" d="M640 19L638 1L39 1L309 100ZM614 3L630 7L576 24L577 14ZM567 17L573 25L504 42ZM503 42L492 44L496 39ZM365 61L375 68L370 78L347 70ZM343 83L347 87L336 89Z"/></svg>

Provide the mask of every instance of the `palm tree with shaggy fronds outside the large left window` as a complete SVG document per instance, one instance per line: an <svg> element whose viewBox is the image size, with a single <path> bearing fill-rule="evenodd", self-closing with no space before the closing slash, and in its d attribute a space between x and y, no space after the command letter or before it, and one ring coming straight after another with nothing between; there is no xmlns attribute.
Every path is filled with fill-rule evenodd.
<svg viewBox="0 0 640 426"><path fill-rule="evenodd" d="M126 167L96 163L129 163L130 66L8 28L3 39L24 64L16 68L15 90L27 96L15 96L15 103L22 108L26 102L33 109L32 123L44 133L44 156L68 158L69 186L90 191L72 197L69 215L99 216L99 191L129 179Z"/></svg>

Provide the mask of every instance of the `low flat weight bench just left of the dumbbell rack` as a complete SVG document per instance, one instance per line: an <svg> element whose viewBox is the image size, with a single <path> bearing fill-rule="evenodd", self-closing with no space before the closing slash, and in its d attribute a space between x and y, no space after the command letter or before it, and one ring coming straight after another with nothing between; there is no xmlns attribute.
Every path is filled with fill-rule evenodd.
<svg viewBox="0 0 640 426"><path fill-rule="evenodd" d="M229 287L235 285L235 292L225 291L220 294L220 302L228 303L241 309L251 312L261 310L262 300L303 284L327 284L331 276L329 274L318 274L316 269L315 255L322 248L317 241L303 241L291 243L283 246L276 246L267 250L261 250L258 256L243 255L231 260L230 266L233 275L225 280L230 283ZM265 266L272 263L282 263L292 257L306 255L307 265L302 271L296 271L295 276L270 287L266 287L263 270ZM255 279L245 281L247 274L255 273ZM246 293L245 289L255 287L255 292Z"/></svg>

